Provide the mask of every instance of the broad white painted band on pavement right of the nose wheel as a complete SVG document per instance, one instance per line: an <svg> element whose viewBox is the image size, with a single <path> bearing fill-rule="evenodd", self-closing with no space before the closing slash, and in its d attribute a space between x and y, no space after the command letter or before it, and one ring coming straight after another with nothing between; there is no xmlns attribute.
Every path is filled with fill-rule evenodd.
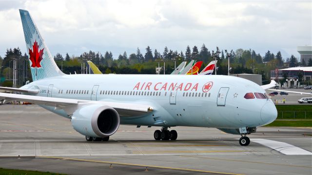
<svg viewBox="0 0 312 175"><path fill-rule="evenodd" d="M304 150L302 148L299 148L297 146L285 142L266 139L251 139L251 141L272 148L284 155L312 155L310 151Z"/></svg>

